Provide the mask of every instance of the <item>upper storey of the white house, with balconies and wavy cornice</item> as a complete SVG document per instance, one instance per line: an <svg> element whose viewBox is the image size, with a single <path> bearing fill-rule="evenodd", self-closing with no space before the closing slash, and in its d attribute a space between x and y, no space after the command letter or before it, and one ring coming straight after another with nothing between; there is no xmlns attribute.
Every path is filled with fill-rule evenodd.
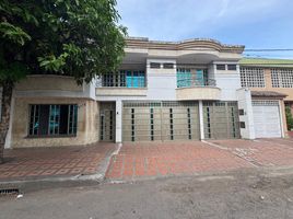
<svg viewBox="0 0 293 219"><path fill-rule="evenodd" d="M241 89L238 61L243 50L244 46L202 38L128 38L119 71L97 80L96 97L233 101Z"/></svg>

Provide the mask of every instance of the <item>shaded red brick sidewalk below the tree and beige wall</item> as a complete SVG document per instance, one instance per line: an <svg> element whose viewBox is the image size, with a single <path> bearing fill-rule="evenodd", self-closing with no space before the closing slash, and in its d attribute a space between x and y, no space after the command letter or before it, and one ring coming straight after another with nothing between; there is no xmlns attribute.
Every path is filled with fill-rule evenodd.
<svg viewBox="0 0 293 219"><path fill-rule="evenodd" d="M0 181L94 174L114 150L114 143L5 150Z"/></svg>

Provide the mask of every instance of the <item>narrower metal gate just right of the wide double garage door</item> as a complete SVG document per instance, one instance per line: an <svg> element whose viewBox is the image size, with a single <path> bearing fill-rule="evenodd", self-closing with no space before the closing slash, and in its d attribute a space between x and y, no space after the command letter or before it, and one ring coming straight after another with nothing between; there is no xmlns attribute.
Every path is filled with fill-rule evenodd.
<svg viewBox="0 0 293 219"><path fill-rule="evenodd" d="M203 102L206 139L239 138L237 102Z"/></svg>

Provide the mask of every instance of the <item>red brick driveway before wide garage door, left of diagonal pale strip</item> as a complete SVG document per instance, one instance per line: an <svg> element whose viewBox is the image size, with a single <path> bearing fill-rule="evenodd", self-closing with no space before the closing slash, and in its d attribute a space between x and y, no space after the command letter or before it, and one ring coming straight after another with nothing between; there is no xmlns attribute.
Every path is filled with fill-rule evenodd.
<svg viewBox="0 0 293 219"><path fill-rule="evenodd" d="M200 141L125 143L112 158L106 177L136 180L141 176L181 175L251 168L228 151Z"/></svg>

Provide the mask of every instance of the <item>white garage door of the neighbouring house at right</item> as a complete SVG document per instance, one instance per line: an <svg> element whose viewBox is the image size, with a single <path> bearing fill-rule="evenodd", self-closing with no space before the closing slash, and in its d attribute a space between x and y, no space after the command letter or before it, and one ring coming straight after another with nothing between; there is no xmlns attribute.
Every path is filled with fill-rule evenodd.
<svg viewBox="0 0 293 219"><path fill-rule="evenodd" d="M281 120L278 101L253 101L256 138L280 138Z"/></svg>

